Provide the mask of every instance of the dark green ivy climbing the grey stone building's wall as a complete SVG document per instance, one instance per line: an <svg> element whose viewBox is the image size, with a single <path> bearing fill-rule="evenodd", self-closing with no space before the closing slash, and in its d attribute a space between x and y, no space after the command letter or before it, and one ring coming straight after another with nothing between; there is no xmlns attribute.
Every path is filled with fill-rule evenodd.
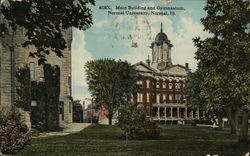
<svg viewBox="0 0 250 156"><path fill-rule="evenodd" d="M30 112L33 127L53 131L59 128L60 68L45 64L43 70L44 82L36 82L30 81L27 66L19 69L16 106ZM31 106L32 100L37 106Z"/></svg>

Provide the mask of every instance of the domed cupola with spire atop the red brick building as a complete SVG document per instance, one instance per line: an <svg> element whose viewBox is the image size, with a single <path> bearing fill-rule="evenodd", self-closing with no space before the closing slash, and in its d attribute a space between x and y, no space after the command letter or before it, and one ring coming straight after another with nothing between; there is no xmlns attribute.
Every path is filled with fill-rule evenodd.
<svg viewBox="0 0 250 156"><path fill-rule="evenodd" d="M173 45L170 40L168 40L167 35L161 31L156 35L155 41L151 44L150 48L152 49L152 64L153 68L158 70L165 70L167 67L172 66L171 61L171 48Z"/></svg>

